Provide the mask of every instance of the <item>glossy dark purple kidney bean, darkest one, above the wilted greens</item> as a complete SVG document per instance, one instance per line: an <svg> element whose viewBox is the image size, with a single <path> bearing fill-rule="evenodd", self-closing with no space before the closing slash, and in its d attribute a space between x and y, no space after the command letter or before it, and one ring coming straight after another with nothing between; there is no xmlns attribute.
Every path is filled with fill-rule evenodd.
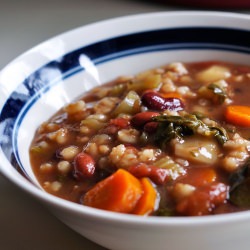
<svg viewBox="0 0 250 250"><path fill-rule="evenodd" d="M184 105L179 98L164 98L159 93L156 93L154 91L148 91L144 93L141 97L141 101L147 108L159 111L166 109L180 111L184 108Z"/></svg>

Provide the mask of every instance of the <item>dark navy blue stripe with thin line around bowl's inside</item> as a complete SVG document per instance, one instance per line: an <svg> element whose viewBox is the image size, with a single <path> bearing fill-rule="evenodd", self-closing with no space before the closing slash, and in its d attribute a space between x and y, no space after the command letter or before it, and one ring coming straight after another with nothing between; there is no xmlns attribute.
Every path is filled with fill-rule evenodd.
<svg viewBox="0 0 250 250"><path fill-rule="evenodd" d="M250 32L246 30L192 27L124 35L70 52L31 74L8 98L0 115L0 124L5 123L1 137L7 138L0 141L3 152L14 165L22 167L16 136L25 114L42 93L47 92L60 80L83 70L79 64L80 55L86 55L97 65L129 55L166 50L213 49L250 54L249 41ZM45 79L42 75L44 69L59 69L61 75L57 79ZM21 94L21 86L27 89L27 95Z"/></svg>

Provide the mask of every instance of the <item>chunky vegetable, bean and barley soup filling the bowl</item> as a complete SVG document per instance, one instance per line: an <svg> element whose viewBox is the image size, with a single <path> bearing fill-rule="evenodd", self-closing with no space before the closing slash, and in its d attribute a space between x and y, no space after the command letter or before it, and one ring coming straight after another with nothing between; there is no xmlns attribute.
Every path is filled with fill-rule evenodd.
<svg viewBox="0 0 250 250"><path fill-rule="evenodd" d="M109 211L201 216L250 209L250 67L171 63L121 76L38 128L47 192Z"/></svg>

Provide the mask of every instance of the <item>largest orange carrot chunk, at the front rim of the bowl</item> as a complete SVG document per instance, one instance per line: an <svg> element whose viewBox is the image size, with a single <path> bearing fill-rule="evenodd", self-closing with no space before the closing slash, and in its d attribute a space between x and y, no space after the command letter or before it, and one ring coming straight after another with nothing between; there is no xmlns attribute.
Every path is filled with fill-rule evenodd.
<svg viewBox="0 0 250 250"><path fill-rule="evenodd" d="M83 204L120 213L130 213L141 198L141 182L128 171L119 169L98 182L84 196Z"/></svg>

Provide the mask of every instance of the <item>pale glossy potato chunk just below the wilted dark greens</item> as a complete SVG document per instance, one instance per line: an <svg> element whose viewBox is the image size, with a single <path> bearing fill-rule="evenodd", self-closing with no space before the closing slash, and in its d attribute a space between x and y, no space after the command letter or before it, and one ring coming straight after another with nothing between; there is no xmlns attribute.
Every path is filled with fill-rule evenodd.
<svg viewBox="0 0 250 250"><path fill-rule="evenodd" d="M174 152L184 159L204 164L214 164L220 149L217 142L202 136L185 138L185 140L174 144Z"/></svg>

